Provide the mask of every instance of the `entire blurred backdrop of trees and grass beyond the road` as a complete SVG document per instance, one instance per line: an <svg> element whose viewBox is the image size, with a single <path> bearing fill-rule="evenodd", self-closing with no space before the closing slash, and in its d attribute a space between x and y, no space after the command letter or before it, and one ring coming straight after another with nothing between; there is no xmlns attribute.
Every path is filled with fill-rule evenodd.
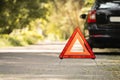
<svg viewBox="0 0 120 80"><path fill-rule="evenodd" d="M65 41L94 0L1 0L0 47Z"/></svg>

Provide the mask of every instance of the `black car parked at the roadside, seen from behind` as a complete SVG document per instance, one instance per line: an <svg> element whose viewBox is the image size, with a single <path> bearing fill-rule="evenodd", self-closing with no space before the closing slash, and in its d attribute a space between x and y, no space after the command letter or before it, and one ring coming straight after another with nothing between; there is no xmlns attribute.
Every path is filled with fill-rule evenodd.
<svg viewBox="0 0 120 80"><path fill-rule="evenodd" d="M92 48L120 48L120 0L96 0L81 18Z"/></svg>

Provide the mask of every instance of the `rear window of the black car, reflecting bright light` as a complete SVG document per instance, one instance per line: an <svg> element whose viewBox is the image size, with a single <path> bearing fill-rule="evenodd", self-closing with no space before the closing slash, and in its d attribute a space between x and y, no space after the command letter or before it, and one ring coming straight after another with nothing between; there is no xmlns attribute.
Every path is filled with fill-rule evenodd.
<svg viewBox="0 0 120 80"><path fill-rule="evenodd" d="M120 1L113 1L113 2L104 2L100 3L99 8L101 9L114 9L114 8L120 8Z"/></svg>

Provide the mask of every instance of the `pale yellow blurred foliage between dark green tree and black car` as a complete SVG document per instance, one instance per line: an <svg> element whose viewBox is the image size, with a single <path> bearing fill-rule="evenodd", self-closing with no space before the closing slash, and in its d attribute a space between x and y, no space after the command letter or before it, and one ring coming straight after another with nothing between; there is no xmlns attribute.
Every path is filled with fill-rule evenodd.
<svg viewBox="0 0 120 80"><path fill-rule="evenodd" d="M80 26L79 13L83 0L53 0L46 34L57 40L68 39L76 26ZM58 37L59 36L59 37Z"/></svg>

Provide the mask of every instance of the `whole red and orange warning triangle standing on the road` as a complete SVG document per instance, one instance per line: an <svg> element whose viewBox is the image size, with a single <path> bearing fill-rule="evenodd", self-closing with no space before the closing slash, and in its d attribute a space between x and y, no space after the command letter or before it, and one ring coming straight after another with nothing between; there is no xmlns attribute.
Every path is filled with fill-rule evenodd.
<svg viewBox="0 0 120 80"><path fill-rule="evenodd" d="M95 56L94 56L94 53L92 52L91 47L89 46L88 42L86 41L86 39L84 38L82 32L78 27L75 29L72 36L68 40L59 58L60 59L63 59L63 58L95 59Z"/></svg>

